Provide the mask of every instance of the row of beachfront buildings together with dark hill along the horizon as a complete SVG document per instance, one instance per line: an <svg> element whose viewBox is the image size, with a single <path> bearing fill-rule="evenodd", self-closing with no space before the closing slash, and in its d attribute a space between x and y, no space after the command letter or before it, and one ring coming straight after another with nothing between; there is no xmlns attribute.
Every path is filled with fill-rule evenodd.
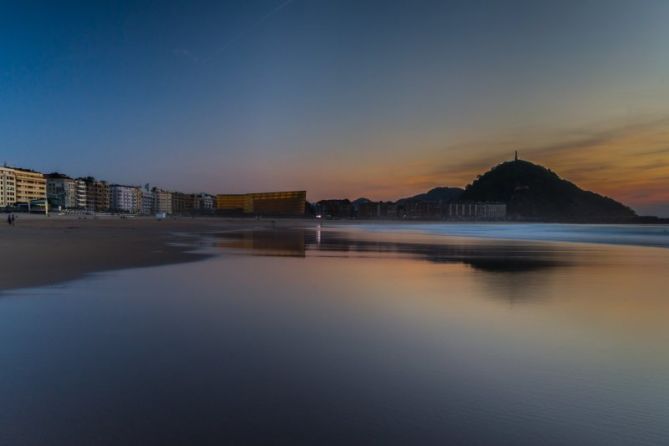
<svg viewBox="0 0 669 446"><path fill-rule="evenodd" d="M470 187L471 186L471 187ZM499 163L466 188L436 187L392 200L307 199L306 190L211 193L119 184L93 176L0 167L0 207L30 212L119 212L133 215L255 215L316 218L632 222L660 221L611 197L579 188L550 168L522 160ZM27 207L26 207L27 206ZM509 213L509 211L511 211ZM661 217L660 217L661 219Z"/></svg>

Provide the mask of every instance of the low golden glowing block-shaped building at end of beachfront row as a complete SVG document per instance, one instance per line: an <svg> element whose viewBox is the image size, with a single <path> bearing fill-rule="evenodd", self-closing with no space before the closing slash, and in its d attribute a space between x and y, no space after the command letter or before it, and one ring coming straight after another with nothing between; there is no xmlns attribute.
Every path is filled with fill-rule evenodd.
<svg viewBox="0 0 669 446"><path fill-rule="evenodd" d="M216 195L216 210L221 213L302 216L306 191L262 192Z"/></svg>

